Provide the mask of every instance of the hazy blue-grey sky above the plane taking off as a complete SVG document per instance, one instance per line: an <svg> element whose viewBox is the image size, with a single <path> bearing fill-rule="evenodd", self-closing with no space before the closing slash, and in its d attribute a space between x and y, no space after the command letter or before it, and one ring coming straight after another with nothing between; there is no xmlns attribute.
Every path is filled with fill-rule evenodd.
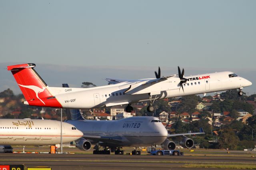
<svg viewBox="0 0 256 170"><path fill-rule="evenodd" d="M178 65L185 75L228 70L256 83L255 9L255 0L0 0L0 62L58 65L73 76L98 68L79 83L154 77L158 66L172 75ZM59 76L71 81L72 71ZM2 90L14 79L0 72Z"/></svg>

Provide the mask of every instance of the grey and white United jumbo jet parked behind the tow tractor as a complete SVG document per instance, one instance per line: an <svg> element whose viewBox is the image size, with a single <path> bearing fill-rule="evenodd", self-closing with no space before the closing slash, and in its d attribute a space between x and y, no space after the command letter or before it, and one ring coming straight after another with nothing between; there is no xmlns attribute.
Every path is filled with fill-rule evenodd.
<svg viewBox="0 0 256 170"><path fill-rule="evenodd" d="M94 146L93 154L124 154L122 147L134 147L133 155L140 155L137 147L162 145L165 150L174 150L176 144L168 140L172 136L182 136L180 145L184 148L192 148L194 141L184 135L204 134L202 128L200 132L168 134L164 125L156 117L129 117L118 121L95 121L85 120L78 109L68 110L67 123L77 127L84 133L78 139L76 147L80 150L90 150ZM100 146L104 150L99 150Z"/></svg>

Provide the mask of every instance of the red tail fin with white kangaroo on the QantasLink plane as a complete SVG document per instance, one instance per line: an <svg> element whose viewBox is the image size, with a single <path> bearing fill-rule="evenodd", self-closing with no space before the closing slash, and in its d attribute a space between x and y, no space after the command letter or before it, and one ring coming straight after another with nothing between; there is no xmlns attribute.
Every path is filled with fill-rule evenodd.
<svg viewBox="0 0 256 170"><path fill-rule="evenodd" d="M7 66L18 83L26 101L33 106L62 107L57 99L47 89L46 83L33 69L35 64L20 64Z"/></svg>

